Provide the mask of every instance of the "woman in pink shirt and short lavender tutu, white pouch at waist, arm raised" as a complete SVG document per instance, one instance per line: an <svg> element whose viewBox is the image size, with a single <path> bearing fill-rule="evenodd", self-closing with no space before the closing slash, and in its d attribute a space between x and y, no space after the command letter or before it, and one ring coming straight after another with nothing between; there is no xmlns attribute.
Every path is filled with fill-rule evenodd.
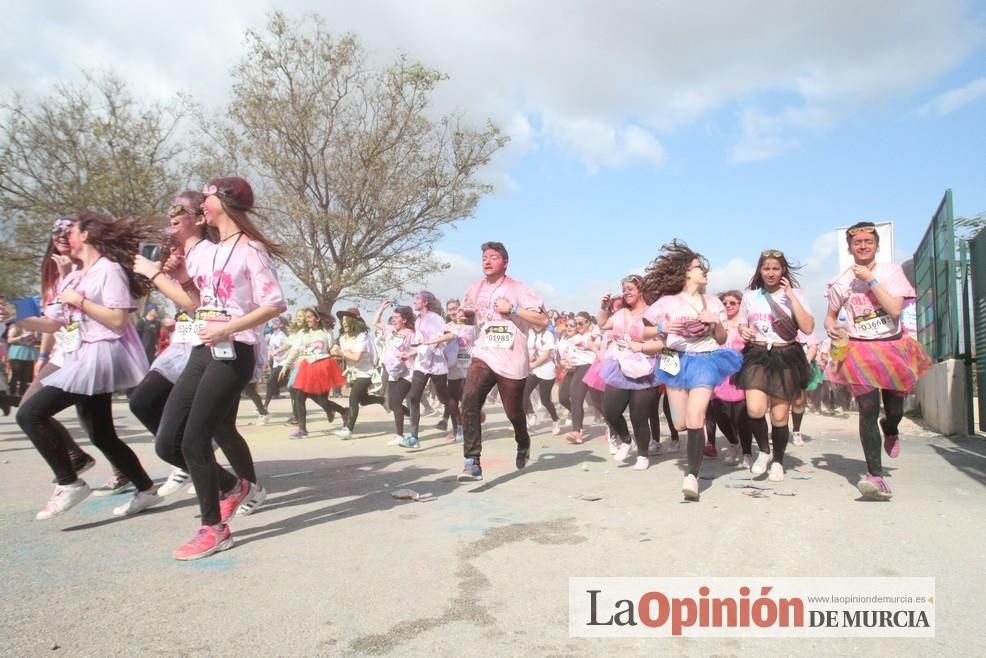
<svg viewBox="0 0 986 658"><path fill-rule="evenodd" d="M645 471L650 466L651 419L659 408L657 382L654 380L655 358L629 349L630 341L643 340L645 324L649 324L644 319L650 304L641 290L643 281L643 277L636 274L626 277L620 284L623 293L621 308L611 315L612 298L606 295L599 310L600 328L611 335L599 374L606 382L603 393L606 423L619 441L614 458L622 462L630 456L630 430L623 417L629 406L630 424L637 444L634 469L638 471Z"/></svg>

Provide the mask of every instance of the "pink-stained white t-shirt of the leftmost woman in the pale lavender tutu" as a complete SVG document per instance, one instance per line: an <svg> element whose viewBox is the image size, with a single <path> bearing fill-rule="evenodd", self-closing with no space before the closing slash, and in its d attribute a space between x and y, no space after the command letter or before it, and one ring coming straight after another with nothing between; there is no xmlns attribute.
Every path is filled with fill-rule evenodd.
<svg viewBox="0 0 986 658"><path fill-rule="evenodd" d="M130 295L130 284L127 274L120 265L108 258L100 258L83 274L82 270L73 270L59 286L59 292L74 288L84 293L86 300L95 302L106 308L123 308L132 311L137 308L137 300ZM83 303L83 305L85 305ZM101 340L118 340L127 333L127 327L133 328L133 323L127 323L123 329L110 329L97 320L90 318L75 306L62 304L46 306L45 315L49 318L68 324L79 323L79 337L83 343L95 343Z"/></svg>

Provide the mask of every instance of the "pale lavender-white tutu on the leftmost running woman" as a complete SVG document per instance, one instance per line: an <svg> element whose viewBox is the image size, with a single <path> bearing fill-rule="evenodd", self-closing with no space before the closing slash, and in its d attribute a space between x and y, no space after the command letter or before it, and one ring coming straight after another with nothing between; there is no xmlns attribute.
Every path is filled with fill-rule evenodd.
<svg viewBox="0 0 986 658"><path fill-rule="evenodd" d="M82 343L75 352L63 354L62 361L58 372L41 383L78 395L125 391L147 374L147 355L133 325L127 327L123 338Z"/></svg>

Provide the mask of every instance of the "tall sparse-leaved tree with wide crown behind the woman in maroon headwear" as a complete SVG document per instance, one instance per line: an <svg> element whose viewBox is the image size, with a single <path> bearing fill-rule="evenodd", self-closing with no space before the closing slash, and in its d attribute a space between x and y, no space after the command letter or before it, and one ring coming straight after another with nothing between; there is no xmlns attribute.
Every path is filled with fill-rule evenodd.
<svg viewBox="0 0 986 658"><path fill-rule="evenodd" d="M447 268L432 244L491 191L477 172L507 137L430 118L443 74L404 57L372 70L354 36L333 38L316 15L273 13L246 48L211 131L216 157L258 179L268 230L319 307Z"/></svg>

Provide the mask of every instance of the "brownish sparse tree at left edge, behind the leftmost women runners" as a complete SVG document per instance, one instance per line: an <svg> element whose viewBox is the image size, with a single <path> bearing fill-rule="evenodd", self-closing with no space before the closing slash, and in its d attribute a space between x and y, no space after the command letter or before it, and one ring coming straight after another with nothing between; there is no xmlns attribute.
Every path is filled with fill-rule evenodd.
<svg viewBox="0 0 986 658"><path fill-rule="evenodd" d="M45 98L0 101L0 281L36 289L52 220L80 210L161 213L185 177L176 139L187 103L134 100L111 73Z"/></svg>

